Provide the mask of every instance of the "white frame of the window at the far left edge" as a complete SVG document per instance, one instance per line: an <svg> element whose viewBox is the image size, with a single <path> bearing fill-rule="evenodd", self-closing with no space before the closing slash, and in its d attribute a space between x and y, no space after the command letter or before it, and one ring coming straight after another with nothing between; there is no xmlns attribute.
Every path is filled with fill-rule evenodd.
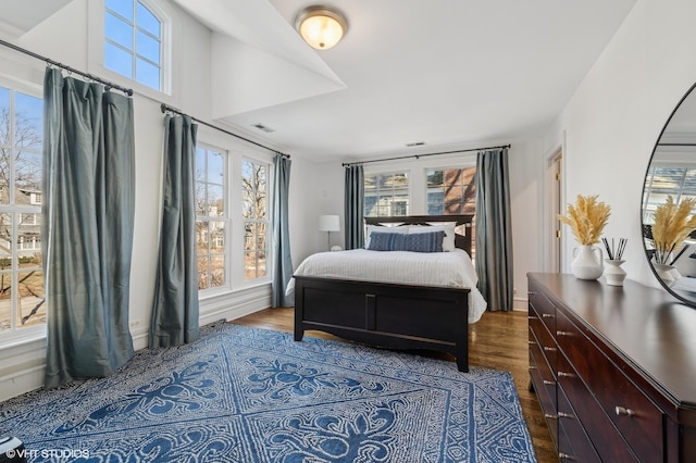
<svg viewBox="0 0 696 463"><path fill-rule="evenodd" d="M44 99L44 86L39 85L39 84L32 84L18 78L12 78L9 76L0 76L0 87L7 88L12 92L21 92L24 93L26 96L33 97L33 98L37 98L39 100ZM14 108L14 107L13 107ZM12 113L14 114L14 111L12 110ZM42 153L41 150L39 150L39 153ZM14 188L12 188L13 190ZM12 197L14 197L14 192L11 193ZM41 193L42 197L42 193ZM41 214L42 213L42 205L41 202L38 203L29 203L29 204L22 204L22 205L17 205L15 204L0 204L0 214L12 214L13 217L22 217L25 214ZM13 236L16 237L16 246L14 247L16 249L16 251L24 251L25 249L20 249L21 242L18 239L18 226L20 223L16 220L12 221L12 234ZM40 235L39 235L40 237ZM40 240L42 242L42 239ZM18 255L16 253L16 251L13 251L13 259L16 259L18 262ZM38 250L40 252L40 248ZM46 268L44 267L44 263L41 262L41 265L39 267L36 268L40 268L41 274L44 275L45 278L45 274L46 274ZM28 271L30 268L16 268L16 270L10 270L9 272L3 272L4 274L10 274L12 275L12 287L16 287L16 280L18 279L18 275L22 273L25 273L26 271ZM44 290L46 290L45 286L44 286ZM46 292L44 293L45 299L46 298ZM48 305L48 301L46 302ZM7 330L0 330L0 348L5 348L9 346L13 346L16 345L17 342L29 342L36 339L41 339L46 337L46 333L47 333L47 324L42 323L42 324L38 324L35 326L28 326L26 328L21 328L17 329L16 328L16 317L17 317L17 311L18 311L18 301L16 300L12 300L11 301L11 328L7 329Z"/></svg>

